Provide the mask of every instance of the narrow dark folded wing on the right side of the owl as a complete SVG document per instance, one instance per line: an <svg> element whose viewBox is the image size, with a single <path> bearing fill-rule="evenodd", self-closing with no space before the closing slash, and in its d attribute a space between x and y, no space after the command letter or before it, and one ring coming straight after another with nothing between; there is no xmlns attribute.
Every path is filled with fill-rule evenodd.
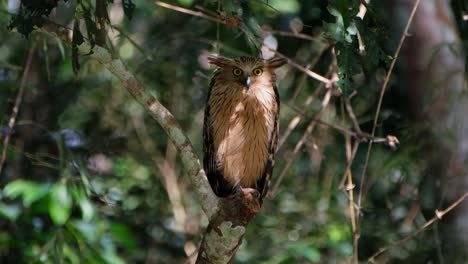
<svg viewBox="0 0 468 264"><path fill-rule="evenodd" d="M275 112L275 123L274 128L272 131L270 145L268 148L268 160L265 167L265 172L263 173L262 178L257 181L257 189L260 192L260 197L263 198L268 193L268 188L270 185L270 180L273 175L273 167L275 166L275 153L276 153L276 146L278 144L278 135L279 135L279 110L280 110L280 102L279 102L279 93L278 89L275 84L273 84L273 89L275 91L276 97L276 112Z"/></svg>

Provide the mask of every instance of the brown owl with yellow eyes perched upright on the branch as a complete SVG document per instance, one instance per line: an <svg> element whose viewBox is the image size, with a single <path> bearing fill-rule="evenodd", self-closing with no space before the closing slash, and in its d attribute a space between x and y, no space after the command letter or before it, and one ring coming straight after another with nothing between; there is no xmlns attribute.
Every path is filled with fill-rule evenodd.
<svg viewBox="0 0 468 264"><path fill-rule="evenodd" d="M209 56L211 79L203 124L203 166L213 191L268 191L278 141L280 101L274 70L281 58Z"/></svg>

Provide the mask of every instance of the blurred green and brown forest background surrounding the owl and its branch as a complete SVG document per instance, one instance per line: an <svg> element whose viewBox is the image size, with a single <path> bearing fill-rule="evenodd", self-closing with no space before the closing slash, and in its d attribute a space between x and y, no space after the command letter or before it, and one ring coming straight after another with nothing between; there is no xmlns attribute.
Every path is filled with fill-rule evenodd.
<svg viewBox="0 0 468 264"><path fill-rule="evenodd" d="M212 53L288 60L269 198L234 263L468 261L468 2L1 0L0 12L1 263L194 262L201 185L131 88L201 157Z"/></svg>

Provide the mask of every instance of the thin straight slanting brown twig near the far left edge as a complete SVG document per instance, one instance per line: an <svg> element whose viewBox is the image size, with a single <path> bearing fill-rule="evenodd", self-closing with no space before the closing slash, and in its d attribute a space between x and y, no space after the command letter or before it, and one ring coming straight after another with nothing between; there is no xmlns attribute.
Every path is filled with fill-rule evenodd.
<svg viewBox="0 0 468 264"><path fill-rule="evenodd" d="M13 127L15 126L16 117L18 116L19 108L23 101L24 87L26 86L26 80L28 79L35 48L36 42L34 42L32 47L29 49L28 58L26 59L26 66L24 67L20 87L18 89L18 94L16 95L15 105L13 106L13 111L11 113L10 120L8 121L8 130L5 135L5 139L3 140L2 157L0 159L0 175L2 174L3 164L6 160L7 148L8 144L10 143L11 133L13 131Z"/></svg>

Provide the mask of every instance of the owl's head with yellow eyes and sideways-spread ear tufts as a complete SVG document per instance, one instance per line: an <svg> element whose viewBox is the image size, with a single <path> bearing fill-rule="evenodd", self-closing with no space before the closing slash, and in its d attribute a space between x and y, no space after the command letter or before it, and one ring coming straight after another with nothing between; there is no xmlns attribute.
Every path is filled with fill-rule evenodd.
<svg viewBox="0 0 468 264"><path fill-rule="evenodd" d="M257 82L274 81L274 70L286 63L283 58L263 60L254 57L226 58L219 55L208 56L208 61L219 67L220 78L238 82L247 89Z"/></svg>

